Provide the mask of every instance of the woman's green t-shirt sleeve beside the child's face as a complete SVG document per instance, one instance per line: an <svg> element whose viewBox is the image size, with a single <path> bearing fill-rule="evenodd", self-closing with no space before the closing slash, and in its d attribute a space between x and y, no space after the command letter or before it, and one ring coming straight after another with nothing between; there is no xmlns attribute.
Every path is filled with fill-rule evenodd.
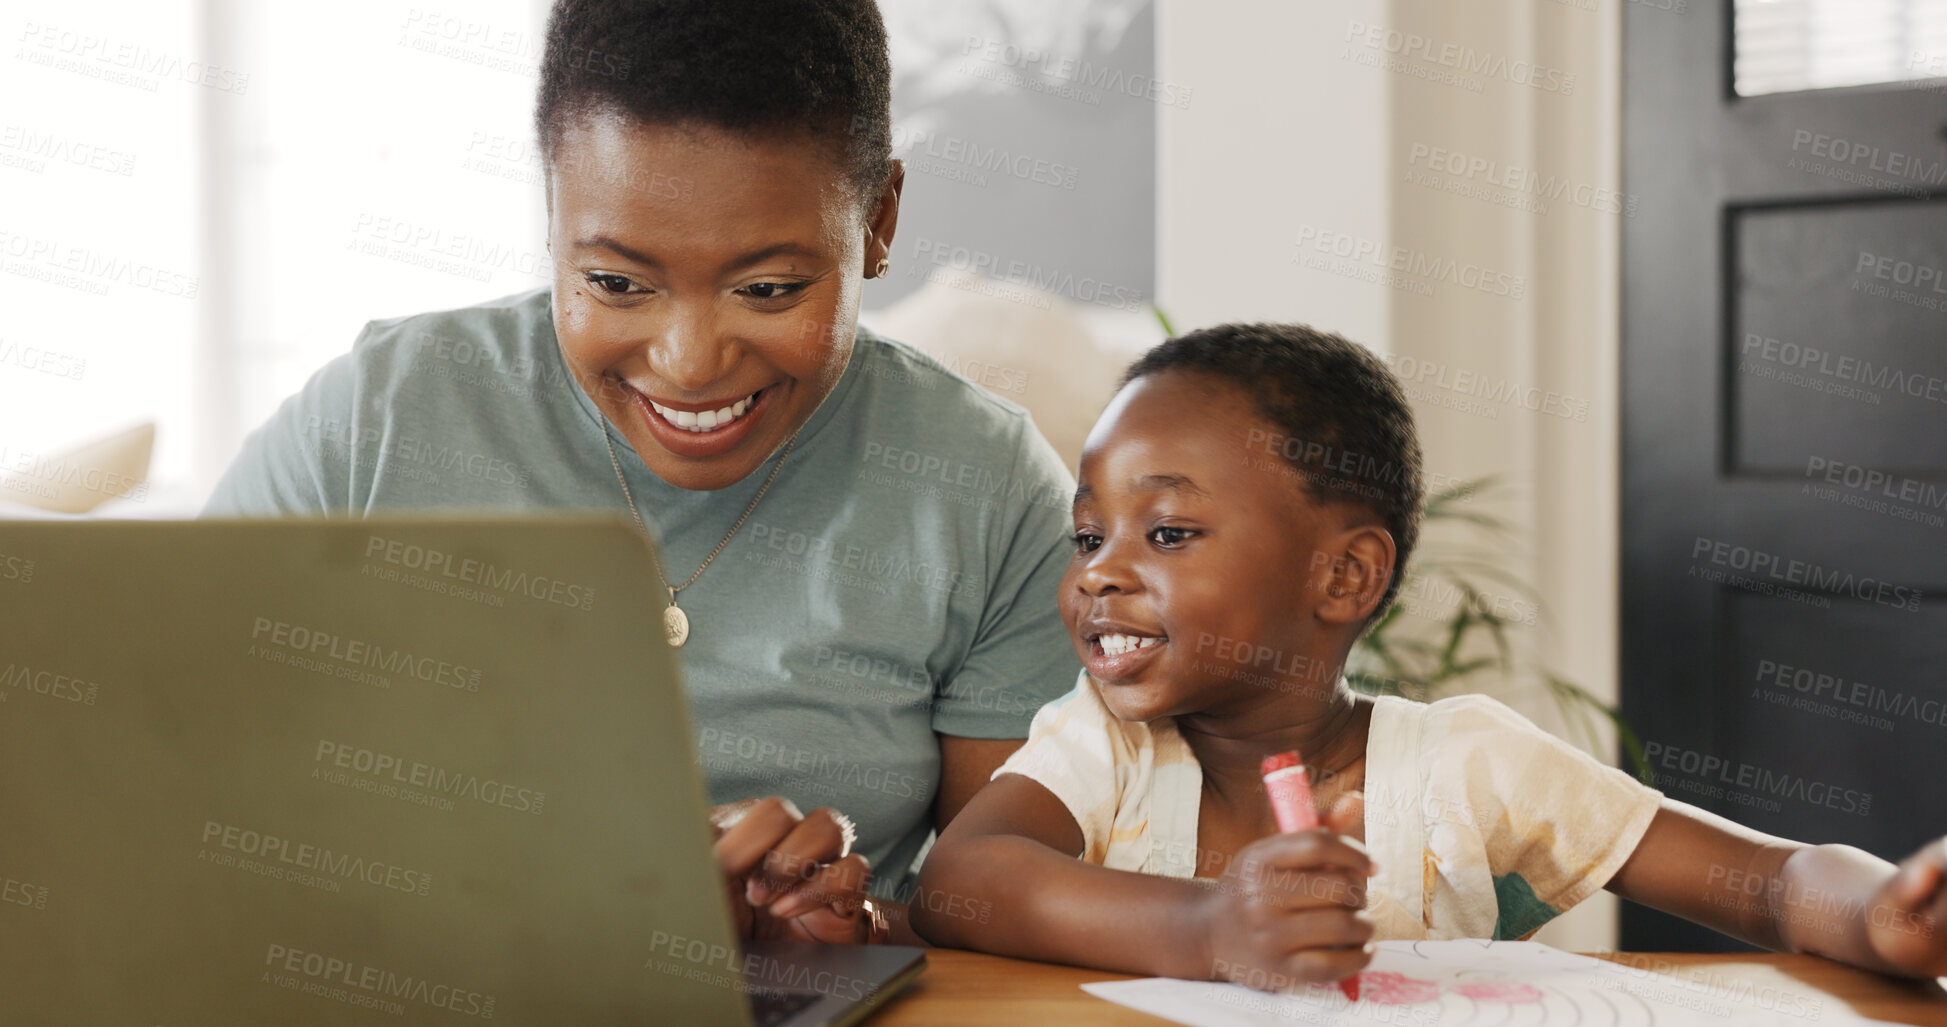
<svg viewBox="0 0 1947 1027"><path fill-rule="evenodd" d="M935 692L933 729L964 739L1020 739L1042 704L1065 694L1081 657L1055 608L1071 544L1075 479L1055 450L1020 421L1016 516L985 538L1001 553L966 659Z"/></svg>

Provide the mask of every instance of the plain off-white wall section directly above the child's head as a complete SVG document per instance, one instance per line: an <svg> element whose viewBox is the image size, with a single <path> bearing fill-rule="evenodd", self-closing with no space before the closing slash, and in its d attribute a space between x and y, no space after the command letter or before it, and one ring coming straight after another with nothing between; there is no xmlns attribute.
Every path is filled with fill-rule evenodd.
<svg viewBox="0 0 1947 1027"><path fill-rule="evenodd" d="M1390 347L1384 285L1295 263L1330 265L1312 247L1326 232L1351 246L1390 234L1390 82L1340 57L1347 23L1384 8L1157 2L1158 76L1192 90L1157 125L1157 296L1178 331L1306 322Z"/></svg>

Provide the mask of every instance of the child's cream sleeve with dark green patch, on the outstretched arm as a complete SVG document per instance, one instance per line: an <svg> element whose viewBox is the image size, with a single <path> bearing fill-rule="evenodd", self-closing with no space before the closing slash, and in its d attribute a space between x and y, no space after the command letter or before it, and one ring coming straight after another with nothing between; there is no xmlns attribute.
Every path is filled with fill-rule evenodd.
<svg viewBox="0 0 1947 1027"><path fill-rule="evenodd" d="M1663 793L1486 696L1454 702L1435 780L1462 781L1499 904L1526 937L1595 894L1635 852Z"/></svg>

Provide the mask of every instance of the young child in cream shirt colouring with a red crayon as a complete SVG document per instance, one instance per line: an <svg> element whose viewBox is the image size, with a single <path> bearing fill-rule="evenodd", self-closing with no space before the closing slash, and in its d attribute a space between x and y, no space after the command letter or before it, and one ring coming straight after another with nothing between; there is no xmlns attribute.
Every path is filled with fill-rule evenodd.
<svg viewBox="0 0 1947 1027"><path fill-rule="evenodd" d="M1345 655L1400 587L1419 501L1406 396L1345 339L1223 325L1137 361L1075 491L1059 604L1084 672L921 873L993 914L915 904L915 928L1277 986L1351 974L1375 937L1525 937L1608 887L1770 949L1947 974L1947 840L1900 867L1787 842L1493 700L1351 692ZM1326 828L1277 832L1260 760L1291 748Z"/></svg>

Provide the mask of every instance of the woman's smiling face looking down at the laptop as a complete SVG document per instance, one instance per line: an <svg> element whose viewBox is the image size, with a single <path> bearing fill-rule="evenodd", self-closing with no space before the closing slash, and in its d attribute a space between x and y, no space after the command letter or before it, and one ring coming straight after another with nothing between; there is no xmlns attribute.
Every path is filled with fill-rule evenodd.
<svg viewBox="0 0 1947 1027"><path fill-rule="evenodd" d="M650 472L722 489L810 419L851 359L859 283L890 253L900 183L896 170L878 203L861 201L810 134L621 113L563 131L549 168L555 333Z"/></svg>

